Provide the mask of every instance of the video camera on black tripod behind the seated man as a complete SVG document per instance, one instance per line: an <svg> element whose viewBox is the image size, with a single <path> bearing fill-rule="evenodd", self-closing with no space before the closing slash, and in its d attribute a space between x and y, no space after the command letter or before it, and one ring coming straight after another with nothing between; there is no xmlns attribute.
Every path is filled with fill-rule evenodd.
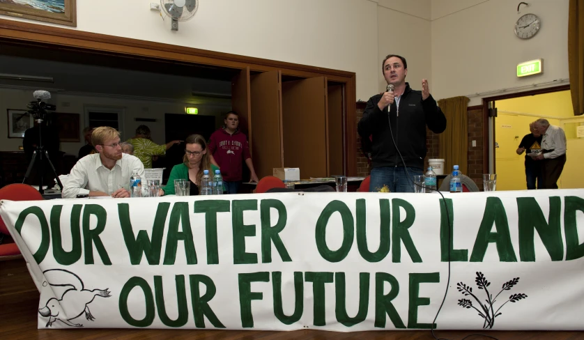
<svg viewBox="0 0 584 340"><path fill-rule="evenodd" d="M47 104L44 101L44 100L51 98L51 93L49 91L43 91L43 90L34 91L33 96L34 96L34 98L36 98L36 102L33 101L33 102L30 102L28 105L26 105L26 107L29 108L29 111L26 111L26 114L31 114L33 116L34 120L39 125L38 126L38 145L36 146L36 149L33 152L33 157L32 157L31 162L29 164L29 168L26 169L26 174L24 175L24 180L22 180L22 183L25 183L26 180L31 176L31 171L35 165L35 162L38 160L39 162L37 162L37 164L38 164L38 168L39 168L38 173L39 173L39 178L40 178L38 191L40 192L40 194L44 193L43 176L45 174L45 169L43 167L43 163L44 163L43 158L45 158L45 160L47 160L50 168L53 171L54 178L56 179L56 182L59 185L59 188L61 190L63 190L63 184L61 183L61 180L59 179L59 176L57 175L57 173L55 171L55 167L49 158L49 153L47 152L47 150L43 146L43 137L42 137L42 133L41 133L41 129L40 129L40 125L43 123L43 121L45 121L47 119L47 114L48 114L47 111L54 111L56 109L56 106L51 105L51 104Z"/></svg>

